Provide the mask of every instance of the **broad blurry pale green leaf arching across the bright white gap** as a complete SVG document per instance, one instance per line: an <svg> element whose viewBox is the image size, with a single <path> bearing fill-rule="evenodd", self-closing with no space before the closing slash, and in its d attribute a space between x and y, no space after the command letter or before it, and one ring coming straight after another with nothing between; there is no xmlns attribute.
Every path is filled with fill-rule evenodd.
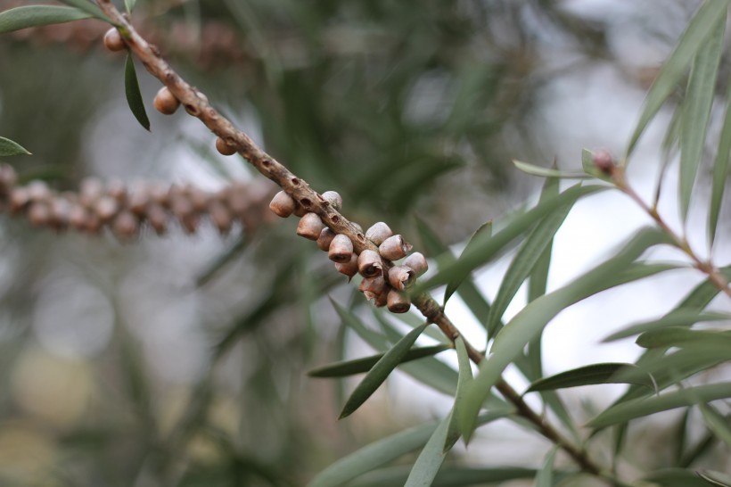
<svg viewBox="0 0 731 487"><path fill-rule="evenodd" d="M624 284L621 270L628 268L645 250L655 244L668 243L668 237L659 230L644 229L624 246L622 251L603 264L578 277L569 285L530 302L497 335L489 359L480 364L480 374L475 377L469 390L464 408L459 411L459 426L465 439L474 429L474 420L480 406L497 383L507 367L518 357L530 342L558 313L575 302L614 285Z"/></svg>

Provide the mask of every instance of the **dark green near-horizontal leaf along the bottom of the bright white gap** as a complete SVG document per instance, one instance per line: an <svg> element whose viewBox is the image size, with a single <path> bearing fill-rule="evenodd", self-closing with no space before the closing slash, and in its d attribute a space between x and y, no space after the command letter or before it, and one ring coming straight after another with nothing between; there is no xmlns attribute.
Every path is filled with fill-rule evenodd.
<svg viewBox="0 0 731 487"><path fill-rule="evenodd" d="M623 379L620 376L620 372L628 368L639 369L639 367L633 364L625 363L602 363L578 367L554 376L538 379L531 383L528 390L523 393L527 394L528 392L534 391L565 389L567 387L578 387L580 385L627 384L629 381L631 381L631 384L645 385L650 389L653 389L653 380L649 376L645 376L644 381L638 380L634 377Z"/></svg>

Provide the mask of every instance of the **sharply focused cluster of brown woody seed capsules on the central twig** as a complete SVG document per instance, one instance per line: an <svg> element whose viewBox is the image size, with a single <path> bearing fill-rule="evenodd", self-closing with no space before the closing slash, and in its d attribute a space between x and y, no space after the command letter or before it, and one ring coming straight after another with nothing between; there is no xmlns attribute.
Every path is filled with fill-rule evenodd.
<svg viewBox="0 0 731 487"><path fill-rule="evenodd" d="M342 198L334 191L322 194L335 210L341 210ZM426 272L426 258L420 252L411 252L401 235L394 235L388 225L382 221L366 230L366 238L378 246L378 252L364 250L359 254L348 235L336 234L325 227L316 213L306 212L292 196L280 191L269 203L269 208L282 218L294 214L301 217L297 226L297 235L314 240L320 250L335 263L341 274L353 277L360 274L363 280L360 291L368 301L373 300L376 306L387 306L393 313L406 313L411 307L411 300L406 292L414 285L416 277ZM357 224L354 224L357 226ZM403 261L394 265L397 260Z"/></svg>

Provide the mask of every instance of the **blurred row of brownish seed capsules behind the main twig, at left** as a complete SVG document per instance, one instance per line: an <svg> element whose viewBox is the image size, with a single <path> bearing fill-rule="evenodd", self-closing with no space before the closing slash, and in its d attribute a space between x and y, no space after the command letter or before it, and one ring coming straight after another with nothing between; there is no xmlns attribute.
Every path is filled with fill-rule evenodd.
<svg viewBox="0 0 731 487"><path fill-rule="evenodd" d="M0 205L11 215L25 215L37 227L72 229L98 234L109 228L120 239L139 235L151 227L158 235L179 225L193 234L208 219L222 234L240 223L255 231L266 219L271 191L258 183L235 182L218 192L208 193L196 186L165 186L139 183L127 187L122 182L104 184L87 178L79 193L58 193L43 181L17 186L15 171L0 165Z"/></svg>

